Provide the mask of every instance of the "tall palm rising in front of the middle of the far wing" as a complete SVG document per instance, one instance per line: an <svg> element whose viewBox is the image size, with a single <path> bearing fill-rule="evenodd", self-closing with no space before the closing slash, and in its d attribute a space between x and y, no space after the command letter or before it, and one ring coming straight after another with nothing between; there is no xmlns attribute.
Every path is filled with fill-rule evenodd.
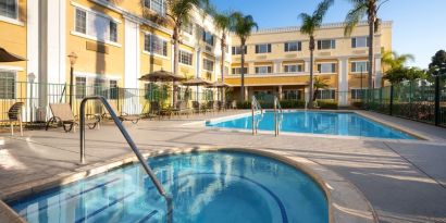
<svg viewBox="0 0 446 223"><path fill-rule="evenodd" d="M315 41L314 41L314 33L315 29L321 27L323 17L329 10L329 8L333 4L333 0L324 0L321 3L319 3L318 9L313 12L312 15L309 15L307 13L300 13L299 18L302 20L302 25L300 27L300 33L306 34L310 36L310 97L313 95L313 73L314 73L314 48L315 48ZM309 101L309 108L313 108L313 99L310 98Z"/></svg>

